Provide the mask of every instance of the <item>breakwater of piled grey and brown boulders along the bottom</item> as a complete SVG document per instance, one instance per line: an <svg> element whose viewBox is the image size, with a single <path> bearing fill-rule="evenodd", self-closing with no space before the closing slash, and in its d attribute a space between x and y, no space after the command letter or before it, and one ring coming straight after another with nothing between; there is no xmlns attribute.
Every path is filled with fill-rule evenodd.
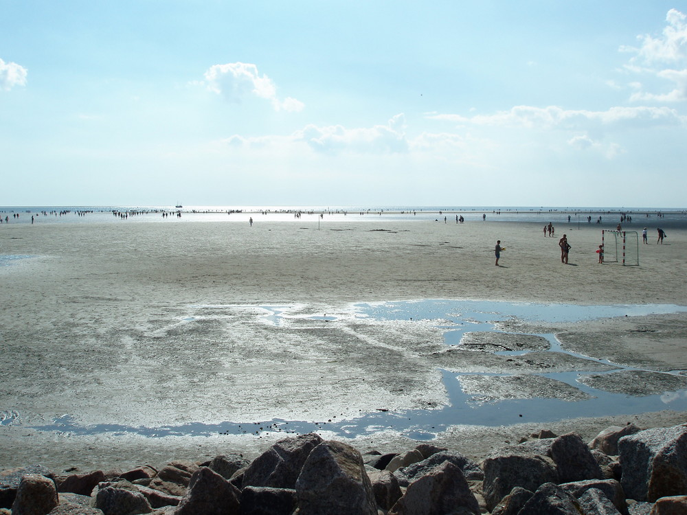
<svg viewBox="0 0 687 515"><path fill-rule="evenodd" d="M671 515L687 513L687 424L532 434L477 463L419 444L361 454L315 433L156 469L0 472L12 515Z"/></svg>

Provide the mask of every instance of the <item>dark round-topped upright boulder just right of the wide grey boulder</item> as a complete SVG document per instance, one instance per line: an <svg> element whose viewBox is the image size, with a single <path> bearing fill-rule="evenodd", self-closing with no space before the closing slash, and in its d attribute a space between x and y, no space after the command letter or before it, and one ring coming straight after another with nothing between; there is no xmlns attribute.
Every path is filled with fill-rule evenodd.
<svg viewBox="0 0 687 515"><path fill-rule="evenodd" d="M603 477L592 452L577 433L567 433L555 438L551 444L551 457L556 464L559 483Z"/></svg>

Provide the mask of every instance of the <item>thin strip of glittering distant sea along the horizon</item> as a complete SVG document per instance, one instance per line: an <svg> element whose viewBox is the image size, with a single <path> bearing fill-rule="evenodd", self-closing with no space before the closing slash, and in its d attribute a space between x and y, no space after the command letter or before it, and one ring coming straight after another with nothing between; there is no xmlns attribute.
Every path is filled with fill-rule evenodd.
<svg viewBox="0 0 687 515"><path fill-rule="evenodd" d="M180 213L181 216L177 216ZM167 216L163 216L166 214ZM208 205L141 205L141 206L0 206L0 216L8 223L93 223L93 222L346 222L439 220L455 223L462 216L465 222L539 222L554 225L587 224L592 217L596 225L599 217L602 226L613 227L622 215L631 217L626 229L651 227L687 227L687 209L660 209L651 207L531 207L531 206L208 206ZM16 216L18 215L18 216ZM322 217L320 216L322 215ZM570 216L570 221L568 220Z"/></svg>

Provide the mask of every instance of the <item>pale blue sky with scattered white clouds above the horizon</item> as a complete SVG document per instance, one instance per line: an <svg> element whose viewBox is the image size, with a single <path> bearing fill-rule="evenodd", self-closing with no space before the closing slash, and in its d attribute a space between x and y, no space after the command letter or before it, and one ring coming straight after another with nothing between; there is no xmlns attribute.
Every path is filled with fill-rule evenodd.
<svg viewBox="0 0 687 515"><path fill-rule="evenodd" d="M0 205L687 206L687 1L0 0Z"/></svg>

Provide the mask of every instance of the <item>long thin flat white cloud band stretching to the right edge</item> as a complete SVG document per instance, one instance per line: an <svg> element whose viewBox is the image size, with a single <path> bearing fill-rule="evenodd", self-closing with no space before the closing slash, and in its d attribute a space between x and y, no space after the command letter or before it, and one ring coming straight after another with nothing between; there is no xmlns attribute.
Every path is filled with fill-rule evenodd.
<svg viewBox="0 0 687 515"><path fill-rule="evenodd" d="M525 127L532 129L587 129L592 126L635 125L667 126L684 124L686 119L668 107L611 107L607 111L563 109L558 106L515 106L510 111L492 115L432 115L429 119L446 120L461 125Z"/></svg>

